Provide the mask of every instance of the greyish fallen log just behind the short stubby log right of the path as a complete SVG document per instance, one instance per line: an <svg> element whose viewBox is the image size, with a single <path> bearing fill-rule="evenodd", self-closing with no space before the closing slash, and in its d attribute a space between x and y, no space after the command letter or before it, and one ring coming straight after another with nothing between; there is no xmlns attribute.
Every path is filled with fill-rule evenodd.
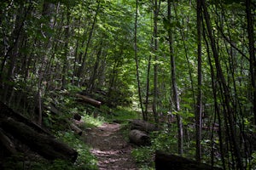
<svg viewBox="0 0 256 170"><path fill-rule="evenodd" d="M156 127L154 124L143 121L143 120L135 119L135 120L131 120L130 123L131 123L131 129L137 129L137 130L145 131L147 133L158 130L158 127Z"/></svg>

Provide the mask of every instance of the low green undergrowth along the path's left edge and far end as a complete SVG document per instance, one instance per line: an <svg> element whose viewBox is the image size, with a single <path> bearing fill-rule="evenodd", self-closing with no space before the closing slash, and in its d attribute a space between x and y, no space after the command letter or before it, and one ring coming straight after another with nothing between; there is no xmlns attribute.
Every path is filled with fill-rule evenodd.
<svg viewBox="0 0 256 170"><path fill-rule="evenodd" d="M67 91L56 91L50 94L49 97L44 99L44 105L55 105L61 114L53 114L50 111L44 115L44 125L50 129L55 135L63 142L68 144L74 150L79 152L79 156L74 164L69 164L66 161L54 161L49 163L38 163L34 165L34 169L40 169L36 167L45 167L44 169L97 169L96 157L90 153L90 147L84 143L81 137L74 134L69 130L69 125L65 120L72 120L73 116L79 115L82 117L79 122L79 127L82 130L86 130L91 127L99 127L105 122L118 122L122 125L122 131L124 137L128 140L129 133L129 120L138 119L141 117L137 111L132 110L129 107L117 106L110 108L107 105L101 105L99 108L86 103L79 102L74 94L79 93L80 89L72 88ZM85 133L86 135L86 133ZM42 169L42 168L41 168Z"/></svg>

